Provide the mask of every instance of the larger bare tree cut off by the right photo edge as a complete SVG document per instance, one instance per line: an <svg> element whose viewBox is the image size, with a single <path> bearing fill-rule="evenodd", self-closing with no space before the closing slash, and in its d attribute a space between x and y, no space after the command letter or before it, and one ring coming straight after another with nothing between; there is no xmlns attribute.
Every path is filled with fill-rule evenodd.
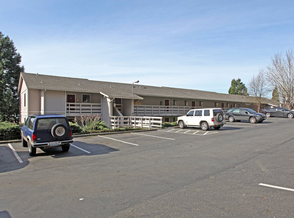
<svg viewBox="0 0 294 218"><path fill-rule="evenodd" d="M288 50L285 57L275 54L267 66L267 77L272 87L277 87L280 99L292 110L294 107L294 58Z"/></svg>

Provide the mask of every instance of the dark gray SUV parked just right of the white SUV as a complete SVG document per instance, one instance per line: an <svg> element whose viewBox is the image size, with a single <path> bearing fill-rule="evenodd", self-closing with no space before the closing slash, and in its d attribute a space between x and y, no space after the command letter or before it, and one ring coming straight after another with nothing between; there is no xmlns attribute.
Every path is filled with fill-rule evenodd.
<svg viewBox="0 0 294 218"><path fill-rule="evenodd" d="M267 118L264 114L257 113L250 108L237 107L228 109L225 113L225 119L230 122L244 120L250 123L262 123Z"/></svg>

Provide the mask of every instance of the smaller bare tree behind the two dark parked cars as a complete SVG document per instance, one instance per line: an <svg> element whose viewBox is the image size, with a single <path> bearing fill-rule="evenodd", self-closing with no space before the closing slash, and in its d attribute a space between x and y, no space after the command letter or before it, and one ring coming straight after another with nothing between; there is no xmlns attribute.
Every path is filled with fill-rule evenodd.
<svg viewBox="0 0 294 218"><path fill-rule="evenodd" d="M260 112L262 109L262 102L270 91L271 88L268 86L265 70L260 68L257 75L253 75L248 82L248 93L253 96L253 98L250 98L250 101L257 108L257 112Z"/></svg>

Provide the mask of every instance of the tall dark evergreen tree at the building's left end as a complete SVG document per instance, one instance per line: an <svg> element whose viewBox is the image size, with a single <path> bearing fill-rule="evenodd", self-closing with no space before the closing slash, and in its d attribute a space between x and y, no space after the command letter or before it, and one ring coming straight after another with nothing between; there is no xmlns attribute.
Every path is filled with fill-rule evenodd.
<svg viewBox="0 0 294 218"><path fill-rule="evenodd" d="M19 120L18 80L24 66L8 36L0 32L0 122Z"/></svg>

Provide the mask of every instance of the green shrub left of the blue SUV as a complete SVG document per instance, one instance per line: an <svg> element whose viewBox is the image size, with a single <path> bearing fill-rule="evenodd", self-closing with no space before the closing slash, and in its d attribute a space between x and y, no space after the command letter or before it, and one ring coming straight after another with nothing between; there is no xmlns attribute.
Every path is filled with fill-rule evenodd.
<svg viewBox="0 0 294 218"><path fill-rule="evenodd" d="M8 121L0 123L0 141L21 139L21 129L18 124Z"/></svg>

